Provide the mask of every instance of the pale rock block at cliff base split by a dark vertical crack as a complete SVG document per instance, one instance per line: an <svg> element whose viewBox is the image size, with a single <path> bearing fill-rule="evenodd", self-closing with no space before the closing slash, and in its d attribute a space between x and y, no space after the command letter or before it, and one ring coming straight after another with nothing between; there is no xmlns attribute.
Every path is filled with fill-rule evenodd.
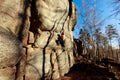
<svg viewBox="0 0 120 80"><path fill-rule="evenodd" d="M27 55L26 77L28 80L38 80L42 76L51 75L50 52L42 52L42 49L36 49Z"/></svg>

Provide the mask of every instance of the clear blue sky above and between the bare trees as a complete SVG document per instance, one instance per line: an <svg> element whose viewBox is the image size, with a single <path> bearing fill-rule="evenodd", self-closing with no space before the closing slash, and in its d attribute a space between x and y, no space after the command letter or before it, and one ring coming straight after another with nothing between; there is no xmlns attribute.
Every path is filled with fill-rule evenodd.
<svg viewBox="0 0 120 80"><path fill-rule="evenodd" d="M82 0L73 0L73 1L76 4L77 13L78 13L81 7ZM86 0L86 1L92 1L92 0ZM118 34L120 34L120 24L119 24L120 17L119 18L116 16L110 17L110 15L113 13L113 4L112 4L113 1L114 0L96 0L96 8L97 8L97 12L100 13L101 20L105 19L102 25L103 33L105 32L106 25L111 24L116 27ZM77 24L75 30L73 31L73 35L75 38L79 37L79 30L82 28L82 23L79 14L77 16L78 16ZM118 46L115 40L113 41L113 44L116 44L115 46Z"/></svg>

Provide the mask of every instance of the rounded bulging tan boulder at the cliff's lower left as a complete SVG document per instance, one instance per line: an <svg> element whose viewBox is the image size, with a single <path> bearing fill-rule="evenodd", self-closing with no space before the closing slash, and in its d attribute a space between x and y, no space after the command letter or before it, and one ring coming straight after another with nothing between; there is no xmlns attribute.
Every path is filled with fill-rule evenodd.
<svg viewBox="0 0 120 80"><path fill-rule="evenodd" d="M15 65L21 56L20 41L13 33L0 27L0 80L15 80Z"/></svg>

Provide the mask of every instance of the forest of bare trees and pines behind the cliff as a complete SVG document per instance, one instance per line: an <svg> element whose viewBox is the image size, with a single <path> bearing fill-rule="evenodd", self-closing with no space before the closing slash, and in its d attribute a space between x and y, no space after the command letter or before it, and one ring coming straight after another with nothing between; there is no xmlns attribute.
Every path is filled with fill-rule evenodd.
<svg viewBox="0 0 120 80"><path fill-rule="evenodd" d="M113 13L109 17L120 16L120 0L113 0L111 4L113 5ZM112 24L106 24L105 33L103 33L104 20L98 19L100 14L97 13L96 0L92 0L92 2L82 0L78 15L81 16L82 20L79 40L83 43L83 54L89 58L110 58L120 62L120 34ZM117 40L118 48L113 47L113 39Z"/></svg>

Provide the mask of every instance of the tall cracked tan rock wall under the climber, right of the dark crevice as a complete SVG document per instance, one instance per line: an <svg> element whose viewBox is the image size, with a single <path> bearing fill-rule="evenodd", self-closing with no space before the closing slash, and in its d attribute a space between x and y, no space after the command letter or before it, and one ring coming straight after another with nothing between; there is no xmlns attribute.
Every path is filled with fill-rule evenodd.
<svg viewBox="0 0 120 80"><path fill-rule="evenodd" d="M27 51L25 77L26 80L58 79L74 64L72 29L76 22L75 7L72 4L71 17L68 0L37 0L35 5L40 24L35 48ZM65 51L56 44L57 35L62 31L65 33Z"/></svg>

